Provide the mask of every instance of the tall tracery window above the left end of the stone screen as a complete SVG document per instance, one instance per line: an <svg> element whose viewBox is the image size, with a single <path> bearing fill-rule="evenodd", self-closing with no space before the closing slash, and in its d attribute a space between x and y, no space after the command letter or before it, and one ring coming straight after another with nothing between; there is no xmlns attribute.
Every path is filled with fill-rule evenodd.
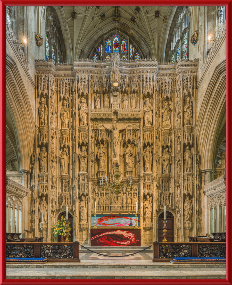
<svg viewBox="0 0 232 285"><path fill-rule="evenodd" d="M63 53L61 49L61 41L57 32L54 15L52 10L46 10L46 60L52 59L54 63L63 62Z"/></svg>

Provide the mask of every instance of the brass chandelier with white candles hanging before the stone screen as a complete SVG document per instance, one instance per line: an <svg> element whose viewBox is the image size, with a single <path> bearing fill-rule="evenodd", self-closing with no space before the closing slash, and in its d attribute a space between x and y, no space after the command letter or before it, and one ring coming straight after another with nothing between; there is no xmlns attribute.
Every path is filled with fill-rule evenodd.
<svg viewBox="0 0 232 285"><path fill-rule="evenodd" d="M132 183L133 181L129 181L129 177L127 175L127 182L122 182L122 174L119 174L119 165L115 164L115 174L113 175L113 181L108 182L107 181L107 176L106 176L106 183L103 182L103 177L102 180L100 180L100 189L102 191L108 191L108 192L113 192L116 194L118 198L118 194L121 193L121 191L132 191ZM121 179L120 179L121 176Z"/></svg>

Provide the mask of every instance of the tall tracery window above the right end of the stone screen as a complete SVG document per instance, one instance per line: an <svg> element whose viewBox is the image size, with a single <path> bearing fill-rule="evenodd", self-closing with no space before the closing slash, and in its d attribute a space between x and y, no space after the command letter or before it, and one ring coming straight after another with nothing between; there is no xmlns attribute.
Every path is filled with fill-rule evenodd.
<svg viewBox="0 0 232 285"><path fill-rule="evenodd" d="M169 61L177 62L177 60L188 58L189 52L189 10L188 7L183 7L179 12L173 36L171 38L171 46L169 51ZM182 45L181 45L182 43Z"/></svg>

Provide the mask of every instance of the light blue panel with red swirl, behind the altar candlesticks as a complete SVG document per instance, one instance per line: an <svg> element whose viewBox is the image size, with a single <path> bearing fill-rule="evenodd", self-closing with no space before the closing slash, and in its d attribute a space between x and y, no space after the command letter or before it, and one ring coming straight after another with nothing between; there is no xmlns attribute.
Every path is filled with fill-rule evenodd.
<svg viewBox="0 0 232 285"><path fill-rule="evenodd" d="M92 227L94 226L94 215L92 215ZM96 215L97 227L134 227L135 214L113 214ZM137 226L140 226L140 215L137 215Z"/></svg>

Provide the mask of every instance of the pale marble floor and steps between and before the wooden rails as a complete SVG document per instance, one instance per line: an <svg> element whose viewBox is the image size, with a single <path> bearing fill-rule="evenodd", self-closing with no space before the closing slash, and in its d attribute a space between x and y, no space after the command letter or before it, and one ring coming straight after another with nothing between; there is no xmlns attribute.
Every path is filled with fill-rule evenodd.
<svg viewBox="0 0 232 285"><path fill-rule="evenodd" d="M7 279L225 279L225 264L171 264L152 262L153 254L142 252L130 257L119 253L80 253L81 262L6 266ZM120 253L126 255L128 253Z"/></svg>

